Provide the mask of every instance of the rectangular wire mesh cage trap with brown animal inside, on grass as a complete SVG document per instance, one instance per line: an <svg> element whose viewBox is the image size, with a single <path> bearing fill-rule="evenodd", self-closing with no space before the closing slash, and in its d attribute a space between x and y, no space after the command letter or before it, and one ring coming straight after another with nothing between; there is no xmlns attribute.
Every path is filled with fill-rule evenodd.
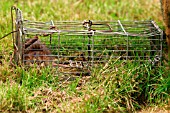
<svg viewBox="0 0 170 113"><path fill-rule="evenodd" d="M13 9L17 63L52 66L58 72L75 74L90 73L109 59L156 59L161 65L163 33L154 21L35 22L23 19L21 10Z"/></svg>

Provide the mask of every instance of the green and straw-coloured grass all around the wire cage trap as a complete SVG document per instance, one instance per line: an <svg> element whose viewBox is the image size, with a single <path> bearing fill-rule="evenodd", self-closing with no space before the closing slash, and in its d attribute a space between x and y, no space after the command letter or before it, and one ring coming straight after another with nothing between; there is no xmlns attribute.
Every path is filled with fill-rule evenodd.
<svg viewBox="0 0 170 113"><path fill-rule="evenodd" d="M0 37L11 31L13 5L33 21L152 19L163 28L159 0L1 0ZM167 112L170 107L170 76L165 65L152 68L148 63L110 60L93 69L91 76L68 80L51 68L10 66L11 36L0 44L1 112Z"/></svg>

